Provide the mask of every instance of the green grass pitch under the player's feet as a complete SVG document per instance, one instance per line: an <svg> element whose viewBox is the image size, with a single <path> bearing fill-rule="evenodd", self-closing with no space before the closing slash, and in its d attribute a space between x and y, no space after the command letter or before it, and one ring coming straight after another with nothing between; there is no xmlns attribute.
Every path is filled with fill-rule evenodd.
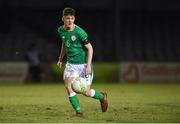
<svg viewBox="0 0 180 124"><path fill-rule="evenodd" d="M0 123L180 122L180 84L93 84L107 91L108 111L78 95L84 113L76 117L63 84L0 85Z"/></svg>

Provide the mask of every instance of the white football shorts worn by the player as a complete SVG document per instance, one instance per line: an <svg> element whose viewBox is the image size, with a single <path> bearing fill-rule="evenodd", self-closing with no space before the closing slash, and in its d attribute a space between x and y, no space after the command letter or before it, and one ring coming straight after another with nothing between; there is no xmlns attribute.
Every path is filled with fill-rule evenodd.
<svg viewBox="0 0 180 124"><path fill-rule="evenodd" d="M65 78L73 78L73 77L82 77L86 80L88 85L92 84L92 80L93 80L93 69L91 67L91 74L86 76L85 75L85 67L86 64L70 64L70 63L66 63L65 69L64 69L64 75L63 75L63 79Z"/></svg>

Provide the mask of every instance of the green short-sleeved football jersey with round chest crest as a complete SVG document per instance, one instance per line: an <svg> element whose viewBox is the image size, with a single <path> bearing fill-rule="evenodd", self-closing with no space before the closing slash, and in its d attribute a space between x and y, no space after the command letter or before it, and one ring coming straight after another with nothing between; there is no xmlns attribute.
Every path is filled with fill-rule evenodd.
<svg viewBox="0 0 180 124"><path fill-rule="evenodd" d="M67 31L63 25L58 28L58 35L65 44L68 63L87 63L87 49L83 42L88 41L88 35L82 28L75 25L73 31Z"/></svg>

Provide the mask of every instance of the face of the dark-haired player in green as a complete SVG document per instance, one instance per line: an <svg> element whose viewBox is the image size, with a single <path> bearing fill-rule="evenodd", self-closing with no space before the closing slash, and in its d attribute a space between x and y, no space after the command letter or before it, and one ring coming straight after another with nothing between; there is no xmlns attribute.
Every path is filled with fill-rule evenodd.
<svg viewBox="0 0 180 124"><path fill-rule="evenodd" d="M63 16L62 20L64 22L65 27L68 30L71 30L73 28L74 21L75 21L75 17L74 16L72 16L72 15Z"/></svg>

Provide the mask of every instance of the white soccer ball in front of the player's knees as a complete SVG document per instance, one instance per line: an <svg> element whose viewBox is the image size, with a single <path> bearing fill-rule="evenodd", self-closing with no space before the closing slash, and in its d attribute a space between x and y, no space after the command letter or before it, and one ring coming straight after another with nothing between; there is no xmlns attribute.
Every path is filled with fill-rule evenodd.
<svg viewBox="0 0 180 124"><path fill-rule="evenodd" d="M85 93L87 91L87 83L86 80L82 77L76 77L72 81L72 89L76 93Z"/></svg>

